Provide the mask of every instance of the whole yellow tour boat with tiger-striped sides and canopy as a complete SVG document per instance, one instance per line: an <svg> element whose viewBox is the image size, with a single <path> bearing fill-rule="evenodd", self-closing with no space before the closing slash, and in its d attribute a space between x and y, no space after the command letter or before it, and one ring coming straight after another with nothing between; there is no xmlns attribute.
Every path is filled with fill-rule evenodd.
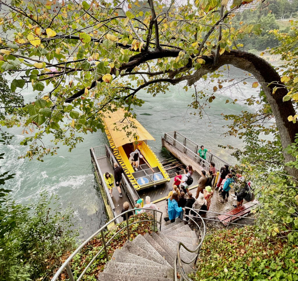
<svg viewBox="0 0 298 281"><path fill-rule="evenodd" d="M134 118L124 118L122 108L104 113L105 133L113 153L131 185L140 190L170 181L170 177L147 145L153 136ZM133 123L135 128L131 128ZM127 126L126 130L122 128Z"/></svg>

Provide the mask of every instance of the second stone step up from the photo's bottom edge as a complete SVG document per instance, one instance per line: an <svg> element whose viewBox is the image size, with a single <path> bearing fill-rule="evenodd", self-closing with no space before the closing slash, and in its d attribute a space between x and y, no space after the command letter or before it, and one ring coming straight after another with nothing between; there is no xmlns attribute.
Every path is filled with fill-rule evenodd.
<svg viewBox="0 0 298 281"><path fill-rule="evenodd" d="M141 275L141 276L152 276L152 277L164 277L171 278L173 277L174 270L173 268L165 268L161 266L154 265L143 265L143 264L134 264L127 262L114 262L108 261L105 264L105 273L115 273L118 274L131 274L131 275ZM142 278L140 277L140 280Z"/></svg>

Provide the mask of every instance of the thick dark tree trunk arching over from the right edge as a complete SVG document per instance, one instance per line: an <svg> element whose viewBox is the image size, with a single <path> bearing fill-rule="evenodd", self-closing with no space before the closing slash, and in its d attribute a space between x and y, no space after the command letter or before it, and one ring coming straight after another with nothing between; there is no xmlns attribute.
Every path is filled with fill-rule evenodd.
<svg viewBox="0 0 298 281"><path fill-rule="evenodd" d="M204 74L212 72L227 64L234 65L237 68L252 73L262 86L262 89L266 94L266 99L271 106L280 133L282 147L286 148L294 142L295 134L298 133L298 123L289 122L288 116L294 116L296 113L291 101L283 102L283 96L288 93L288 90L285 87L278 86L283 85L283 83L280 81L279 74L268 62L252 53L240 52L238 50L231 51L230 53L225 52L223 55L219 56L218 65L216 66L213 66L213 60L211 58L203 57L203 59L206 61L205 65L202 65L199 70L196 70L192 76L185 77L185 79L188 80L189 85L200 79ZM272 84L268 85L270 83ZM272 94L274 86L280 88ZM294 160L290 154L285 153L284 151L283 156L286 162ZM291 176L298 179L297 169L285 167L285 170L288 171Z"/></svg>

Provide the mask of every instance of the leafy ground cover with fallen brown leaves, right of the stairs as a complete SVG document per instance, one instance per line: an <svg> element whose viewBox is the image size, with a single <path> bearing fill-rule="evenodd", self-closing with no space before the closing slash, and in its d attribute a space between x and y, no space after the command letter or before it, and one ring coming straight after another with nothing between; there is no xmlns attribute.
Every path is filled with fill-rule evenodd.
<svg viewBox="0 0 298 281"><path fill-rule="evenodd" d="M298 280L298 246L269 239L256 227L221 230L202 244L199 280Z"/></svg>

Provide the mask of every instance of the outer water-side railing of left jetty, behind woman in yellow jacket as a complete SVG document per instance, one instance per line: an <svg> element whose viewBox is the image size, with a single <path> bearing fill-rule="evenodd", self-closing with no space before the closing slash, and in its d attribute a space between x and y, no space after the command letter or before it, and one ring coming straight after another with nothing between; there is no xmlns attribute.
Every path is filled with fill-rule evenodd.
<svg viewBox="0 0 298 281"><path fill-rule="evenodd" d="M97 152L97 154L95 154L94 149ZM104 151L104 154L102 155L103 151ZM105 145L91 147L90 148L90 154L91 154L91 161L94 164L94 167L95 167L95 169L97 171L97 174L99 176L99 180L100 180L100 182L101 182L101 184L103 186L103 190L105 191L105 196L107 198L107 202L108 202L108 204L110 205L110 207L112 209L113 216L115 217L115 216L117 216L117 214L116 214L116 208L115 208L114 202L113 202L113 200L112 200L112 198L110 196L110 193L109 193L108 187L107 187L107 185L105 183L105 180L103 178L103 173L102 173L102 171L100 169L100 166L99 166L99 164L98 164L98 162L96 160L97 157L106 155ZM119 223L119 221L117 221L117 223Z"/></svg>

